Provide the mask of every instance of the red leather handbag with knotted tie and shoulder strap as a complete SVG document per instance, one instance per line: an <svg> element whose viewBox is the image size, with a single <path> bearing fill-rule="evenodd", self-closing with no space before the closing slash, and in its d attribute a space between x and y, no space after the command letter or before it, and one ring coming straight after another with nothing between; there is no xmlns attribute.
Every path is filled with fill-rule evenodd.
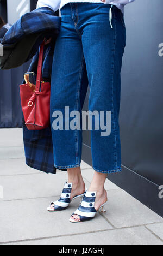
<svg viewBox="0 0 163 256"><path fill-rule="evenodd" d="M42 81L42 58L44 41L40 45L36 86L20 85L21 105L28 130L45 129L50 124L50 82Z"/></svg>

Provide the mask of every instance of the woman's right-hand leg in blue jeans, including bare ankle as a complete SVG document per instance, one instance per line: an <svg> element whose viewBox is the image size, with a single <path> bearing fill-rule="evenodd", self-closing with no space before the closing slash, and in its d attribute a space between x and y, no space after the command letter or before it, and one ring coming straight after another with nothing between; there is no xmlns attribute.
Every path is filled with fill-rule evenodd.
<svg viewBox="0 0 163 256"><path fill-rule="evenodd" d="M111 112L110 134L106 134L105 131L105 135L102 135L101 126L99 129L93 127L91 130L92 164L95 173L89 192L97 192L95 209L98 210L107 200L107 193L104 189L106 175L110 172L121 171L118 115L121 89L120 73L126 30L122 22L121 11L115 7L112 8L113 28L111 28L110 5L85 5L87 13L90 11L90 16L85 15L84 5L78 4L77 6L79 17L83 17L84 23L84 26L81 26L83 28L81 31L90 86L89 110L97 111L98 114L100 111L104 111L104 120L106 120L106 111ZM94 116L92 119L95 121ZM78 215L71 216L74 221L79 218Z"/></svg>

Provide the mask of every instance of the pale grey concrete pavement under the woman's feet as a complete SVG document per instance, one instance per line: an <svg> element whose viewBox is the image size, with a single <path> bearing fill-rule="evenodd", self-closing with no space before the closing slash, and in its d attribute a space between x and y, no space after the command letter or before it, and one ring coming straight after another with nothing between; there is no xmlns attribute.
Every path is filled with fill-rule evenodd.
<svg viewBox="0 0 163 256"><path fill-rule="evenodd" d="M82 162L82 173L89 187L91 166ZM58 199L66 180L66 172L44 174L28 167L22 129L1 129L0 244L163 245L163 219L109 180L105 184L106 213L98 212L95 219L68 221L80 200L72 201L65 211L47 212L46 207Z"/></svg>

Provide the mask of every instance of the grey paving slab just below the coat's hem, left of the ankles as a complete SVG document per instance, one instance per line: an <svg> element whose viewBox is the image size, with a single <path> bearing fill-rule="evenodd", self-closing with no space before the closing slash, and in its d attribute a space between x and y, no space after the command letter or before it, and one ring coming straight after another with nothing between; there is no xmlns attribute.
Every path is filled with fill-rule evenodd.
<svg viewBox="0 0 163 256"><path fill-rule="evenodd" d="M56 175L40 172L39 174L1 176L0 185L3 186L4 197L0 201L60 196L66 181L67 173L63 171ZM89 182L84 181L86 187L89 187Z"/></svg>

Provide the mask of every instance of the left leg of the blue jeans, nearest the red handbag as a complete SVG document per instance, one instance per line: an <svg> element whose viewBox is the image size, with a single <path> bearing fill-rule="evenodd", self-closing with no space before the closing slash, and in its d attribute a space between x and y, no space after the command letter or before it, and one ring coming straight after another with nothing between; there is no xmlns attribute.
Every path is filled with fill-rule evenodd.
<svg viewBox="0 0 163 256"><path fill-rule="evenodd" d="M70 115L82 111L88 85L85 73L82 40L74 26L70 4L66 4L61 8L61 29L55 43L51 79L51 127L56 168L80 167L82 129L70 127L74 120Z"/></svg>

